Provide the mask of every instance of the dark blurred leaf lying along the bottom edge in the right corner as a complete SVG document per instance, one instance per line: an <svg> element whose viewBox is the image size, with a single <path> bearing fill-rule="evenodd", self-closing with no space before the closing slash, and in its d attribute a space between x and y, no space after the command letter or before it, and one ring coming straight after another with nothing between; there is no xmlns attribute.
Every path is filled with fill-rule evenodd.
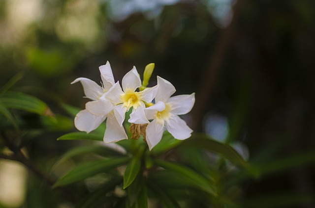
<svg viewBox="0 0 315 208"><path fill-rule="evenodd" d="M314 195L301 193L274 193L268 196L259 196L245 201L240 208L286 208L314 202Z"/></svg>

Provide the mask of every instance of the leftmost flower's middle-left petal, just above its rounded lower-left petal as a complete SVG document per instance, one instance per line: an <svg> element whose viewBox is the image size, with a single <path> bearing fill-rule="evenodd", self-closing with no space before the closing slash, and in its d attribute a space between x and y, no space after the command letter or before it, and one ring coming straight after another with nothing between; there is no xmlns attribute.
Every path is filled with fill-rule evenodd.
<svg viewBox="0 0 315 208"><path fill-rule="evenodd" d="M104 116L114 109L114 104L106 98L100 98L98 101L88 102L85 107L95 116Z"/></svg>

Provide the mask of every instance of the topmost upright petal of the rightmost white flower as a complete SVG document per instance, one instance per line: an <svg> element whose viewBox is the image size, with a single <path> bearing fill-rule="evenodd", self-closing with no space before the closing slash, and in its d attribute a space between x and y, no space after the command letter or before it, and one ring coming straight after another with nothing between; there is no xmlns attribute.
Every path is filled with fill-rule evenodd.
<svg viewBox="0 0 315 208"><path fill-rule="evenodd" d="M158 78L158 93L155 97L156 102L162 101L166 102L171 95L173 95L176 91L175 87L171 84L171 82L167 81L166 79Z"/></svg>

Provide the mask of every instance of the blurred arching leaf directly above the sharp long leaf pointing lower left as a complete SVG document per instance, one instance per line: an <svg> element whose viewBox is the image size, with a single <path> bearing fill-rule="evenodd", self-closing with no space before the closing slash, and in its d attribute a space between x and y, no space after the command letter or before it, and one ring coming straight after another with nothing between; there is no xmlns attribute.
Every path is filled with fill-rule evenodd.
<svg viewBox="0 0 315 208"><path fill-rule="evenodd" d="M60 165L65 160L68 160L74 156L82 156L85 154L97 154L100 156L124 156L123 154L104 146L96 146L96 145L89 145L89 146L80 146L75 147L60 157L60 159L55 163L54 167Z"/></svg>

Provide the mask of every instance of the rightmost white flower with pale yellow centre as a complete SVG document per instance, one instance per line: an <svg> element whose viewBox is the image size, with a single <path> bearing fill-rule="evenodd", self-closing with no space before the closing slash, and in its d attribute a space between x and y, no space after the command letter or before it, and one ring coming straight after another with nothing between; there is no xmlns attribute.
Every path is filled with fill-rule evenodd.
<svg viewBox="0 0 315 208"><path fill-rule="evenodd" d="M153 119L146 130L146 140L150 150L161 140L164 127L176 139L187 139L191 135L192 130L178 115L186 114L191 110L195 95L192 93L171 97L175 91L175 87L169 81L158 77L156 104L145 109L147 119Z"/></svg>

